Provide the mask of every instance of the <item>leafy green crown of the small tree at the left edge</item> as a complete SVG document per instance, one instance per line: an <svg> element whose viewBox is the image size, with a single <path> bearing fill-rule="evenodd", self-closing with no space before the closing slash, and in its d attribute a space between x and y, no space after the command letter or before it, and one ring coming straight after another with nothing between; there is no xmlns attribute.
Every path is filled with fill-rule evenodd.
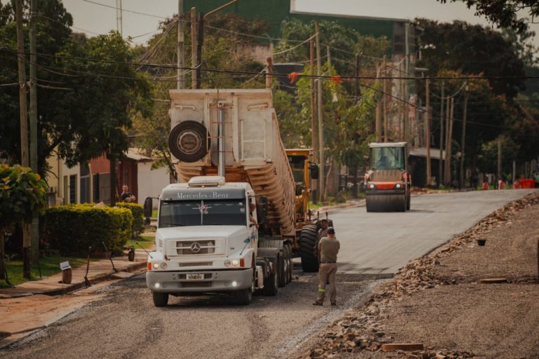
<svg viewBox="0 0 539 359"><path fill-rule="evenodd" d="M0 165L0 231L43 212L47 185L30 168Z"/></svg>

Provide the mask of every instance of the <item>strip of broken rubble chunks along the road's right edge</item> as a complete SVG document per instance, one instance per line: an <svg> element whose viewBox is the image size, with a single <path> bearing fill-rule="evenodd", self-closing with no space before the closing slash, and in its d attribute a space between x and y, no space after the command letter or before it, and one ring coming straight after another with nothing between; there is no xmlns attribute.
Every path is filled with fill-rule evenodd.
<svg viewBox="0 0 539 359"><path fill-rule="evenodd" d="M415 259L406 264L394 276L379 287L366 305L347 316L335 320L324 334L317 348L302 355L307 358L334 358L340 353L359 353L361 351L381 351L382 344L392 343L394 339L387 334L380 321L387 318L385 309L394 301L402 299L413 292L434 288L437 285L456 284L455 280L440 280L434 274L434 266L440 264L439 259L447 257L455 250L470 245L476 239L486 235L495 226L510 222L512 215L539 203L539 194L530 194L505 205L488 217L482 219L472 229L453 238L439 250ZM474 358L477 355L467 351L450 351L446 349L425 348L422 351L394 351L384 354L385 358L425 358L425 359L457 359Z"/></svg>

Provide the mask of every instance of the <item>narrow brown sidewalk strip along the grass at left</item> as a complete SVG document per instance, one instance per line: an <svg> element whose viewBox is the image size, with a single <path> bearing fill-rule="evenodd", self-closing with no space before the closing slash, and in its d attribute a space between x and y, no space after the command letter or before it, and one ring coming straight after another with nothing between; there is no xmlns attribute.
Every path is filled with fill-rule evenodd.
<svg viewBox="0 0 539 359"><path fill-rule="evenodd" d="M107 279L128 278L129 272L137 271L145 268L147 255L142 250L135 250L135 260L129 262L127 256L112 257L114 268L112 269L110 259L99 259L90 262L88 270L88 280L91 284ZM58 264L60 265L60 264ZM62 272L53 274L53 276L43 278L41 280L32 280L29 282L17 285L14 288L4 288L0 290L0 305L1 299L28 297L35 294L58 295L73 292L81 287L85 287L84 276L86 275L86 265L72 269L72 283L62 283Z"/></svg>

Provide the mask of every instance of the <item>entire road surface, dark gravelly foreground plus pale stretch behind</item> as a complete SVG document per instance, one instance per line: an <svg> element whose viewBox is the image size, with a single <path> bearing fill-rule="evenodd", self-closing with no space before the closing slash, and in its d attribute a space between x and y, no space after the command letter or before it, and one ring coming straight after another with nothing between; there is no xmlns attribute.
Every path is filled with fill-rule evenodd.
<svg viewBox="0 0 539 359"><path fill-rule="evenodd" d="M143 276L101 290L105 297L0 350L1 358L286 358L352 306L382 278L504 203L528 191L467 192L412 198L408 213L334 212L342 243L338 306L312 306L317 276L295 266L277 297L236 306L224 296L171 297L156 308ZM327 303L326 303L327 304Z"/></svg>

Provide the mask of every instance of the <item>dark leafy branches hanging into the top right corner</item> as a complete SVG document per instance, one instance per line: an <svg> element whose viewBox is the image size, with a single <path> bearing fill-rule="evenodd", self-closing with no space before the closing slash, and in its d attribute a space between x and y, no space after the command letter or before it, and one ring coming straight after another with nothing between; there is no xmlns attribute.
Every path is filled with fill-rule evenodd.
<svg viewBox="0 0 539 359"><path fill-rule="evenodd" d="M447 0L438 0L446 3ZM527 11L531 18L539 15L539 3L536 0L451 0L460 1L468 8L476 8L475 15L484 15L490 22L498 27L514 29L519 33L528 29L528 19L519 18L517 11Z"/></svg>

